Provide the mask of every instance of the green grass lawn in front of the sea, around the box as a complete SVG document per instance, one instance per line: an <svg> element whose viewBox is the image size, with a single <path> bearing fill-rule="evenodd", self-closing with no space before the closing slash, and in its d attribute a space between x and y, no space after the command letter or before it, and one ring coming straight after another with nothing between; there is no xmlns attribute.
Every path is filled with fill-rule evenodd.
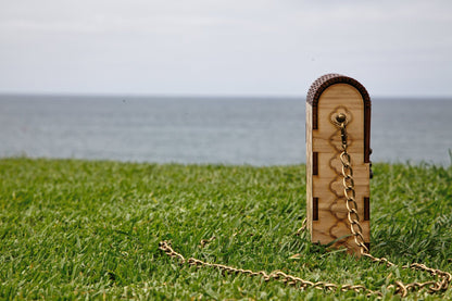
<svg viewBox="0 0 452 301"><path fill-rule="evenodd" d="M372 252L452 272L452 167L374 164ZM0 160L2 299L367 300L180 265L159 249L311 281L430 279L327 252L305 235L305 167ZM216 239L204 248L202 239ZM452 289L409 299L452 299Z"/></svg>

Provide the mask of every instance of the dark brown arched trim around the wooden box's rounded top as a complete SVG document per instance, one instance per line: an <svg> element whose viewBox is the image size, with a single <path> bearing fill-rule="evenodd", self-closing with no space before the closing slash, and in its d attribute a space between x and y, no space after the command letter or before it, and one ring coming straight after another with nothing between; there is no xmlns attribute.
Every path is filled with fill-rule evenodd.
<svg viewBox="0 0 452 301"><path fill-rule="evenodd" d="M354 87L363 98L364 102L364 163L371 162L371 97L366 88L356 79L340 75L326 74L318 77L307 91L306 102L312 106L312 129L317 129L317 104L322 93L335 84L348 84Z"/></svg>

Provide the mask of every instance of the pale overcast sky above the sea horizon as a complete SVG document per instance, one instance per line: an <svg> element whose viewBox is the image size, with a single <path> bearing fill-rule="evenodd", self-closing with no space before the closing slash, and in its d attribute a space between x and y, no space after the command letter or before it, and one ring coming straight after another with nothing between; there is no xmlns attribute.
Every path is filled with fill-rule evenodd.
<svg viewBox="0 0 452 301"><path fill-rule="evenodd" d="M452 1L0 0L0 92L452 97Z"/></svg>

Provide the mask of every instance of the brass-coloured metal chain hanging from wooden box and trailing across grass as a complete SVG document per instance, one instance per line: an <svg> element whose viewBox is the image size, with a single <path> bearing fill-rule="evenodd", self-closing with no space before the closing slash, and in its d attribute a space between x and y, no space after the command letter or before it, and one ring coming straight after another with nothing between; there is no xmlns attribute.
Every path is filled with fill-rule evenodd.
<svg viewBox="0 0 452 301"><path fill-rule="evenodd" d="M373 262L382 263L387 266L395 266L394 263L390 262L386 258L375 258L373 256L367 247L364 243L364 237L362 235L362 227L360 224L360 216L357 214L357 204L356 204L356 192L354 189L354 179L353 179L353 168L352 168L352 162L350 154L348 153L348 135L347 135L347 116L344 114L339 114L337 116L337 123L335 123L340 128L340 135L341 135L341 148L342 152L339 155L339 159L342 164L342 176L343 176L343 196L346 198L346 206L348 210L348 221L350 223L350 231L352 233L352 236L354 237L354 241L360 248L360 253L362 256L371 259ZM300 235L302 230L305 229L305 221L303 222L302 227L296 233L296 235ZM206 242L211 242L214 238L211 238L211 240L201 240L201 246L203 247ZM325 283L325 281L309 281L304 280L300 277L296 277L292 275L288 275L281 271L274 271L269 274L267 274L264 271L254 272L251 269L242 269L242 268L236 268L229 265L224 264L217 264L217 263L209 263L205 261L201 261L194 258L190 258L186 260L184 255L180 253L177 253L173 250L171 247L171 242L168 241L161 241L159 243L159 249L165 252L166 255L178 259L180 264L188 263L192 266L205 266L205 267L214 267L218 268L219 271L224 273L230 273L230 274L243 274L247 276L253 276L253 277L262 277L265 281L269 280L278 280L286 285L297 287L299 289L305 289L305 288L315 288L326 291L350 291L353 290L355 292L365 292L367 297L369 296L377 296L382 297L382 293L380 291L374 291L368 288L366 288L363 285L336 285L331 283ZM419 269L429 273L431 276L437 276L437 280L430 280L425 283L411 283L411 284L403 284L402 281L395 280L393 285L389 285L387 289L394 289L394 293L400 294L401 297L406 297L409 291L413 290L420 290L420 289L427 289L429 293L438 292L438 291L445 291L449 289L450 284L452 283L452 275L448 272L443 272L441 269L430 268L422 263L412 263L411 265L404 265L403 268L412 268L412 269Z"/></svg>

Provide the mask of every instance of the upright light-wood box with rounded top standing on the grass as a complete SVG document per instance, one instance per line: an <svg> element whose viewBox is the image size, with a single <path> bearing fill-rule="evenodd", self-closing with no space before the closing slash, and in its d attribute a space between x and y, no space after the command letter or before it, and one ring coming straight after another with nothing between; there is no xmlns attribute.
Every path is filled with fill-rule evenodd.
<svg viewBox="0 0 452 301"><path fill-rule="evenodd" d="M311 86L306 99L306 225L313 242L329 243L350 235L341 174L340 129L337 114L347 116L348 152L351 155L357 212L364 241L369 242L371 99L353 78L329 74ZM359 253L353 237L339 240Z"/></svg>

